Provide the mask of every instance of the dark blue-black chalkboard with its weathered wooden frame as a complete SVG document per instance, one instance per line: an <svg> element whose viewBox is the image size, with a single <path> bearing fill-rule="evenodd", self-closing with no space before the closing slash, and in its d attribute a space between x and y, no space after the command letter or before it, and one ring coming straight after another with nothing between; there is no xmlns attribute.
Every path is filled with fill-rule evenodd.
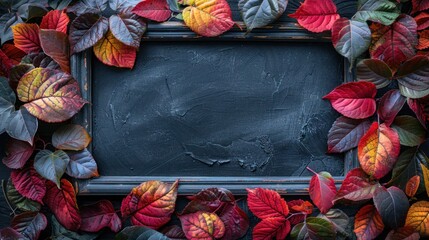
<svg viewBox="0 0 429 240"><path fill-rule="evenodd" d="M322 97L352 81L348 64L328 35L290 18L215 39L178 22L150 25L133 70L91 52L72 64L91 102L75 121L93 137L101 175L78 182L81 195L124 194L149 179L180 179L179 194L210 186L305 194L306 167L340 183L357 165L352 153L326 154L338 114Z"/></svg>

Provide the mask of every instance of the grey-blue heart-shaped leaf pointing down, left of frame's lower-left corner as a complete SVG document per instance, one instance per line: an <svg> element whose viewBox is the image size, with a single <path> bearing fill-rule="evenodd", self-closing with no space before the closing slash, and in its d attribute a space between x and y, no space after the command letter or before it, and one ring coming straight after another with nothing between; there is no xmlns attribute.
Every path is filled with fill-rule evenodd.
<svg viewBox="0 0 429 240"><path fill-rule="evenodd" d="M60 188L61 177L66 171L69 161L69 156L63 150L55 152L42 150L34 158L34 168L42 177L56 183Z"/></svg>

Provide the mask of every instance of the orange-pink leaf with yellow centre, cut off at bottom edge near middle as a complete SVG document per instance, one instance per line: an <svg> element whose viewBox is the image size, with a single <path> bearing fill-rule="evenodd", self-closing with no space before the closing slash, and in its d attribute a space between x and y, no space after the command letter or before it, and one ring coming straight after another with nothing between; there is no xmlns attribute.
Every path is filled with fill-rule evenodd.
<svg viewBox="0 0 429 240"><path fill-rule="evenodd" d="M225 234L225 225L215 213L196 212L179 219L188 239L219 239Z"/></svg>

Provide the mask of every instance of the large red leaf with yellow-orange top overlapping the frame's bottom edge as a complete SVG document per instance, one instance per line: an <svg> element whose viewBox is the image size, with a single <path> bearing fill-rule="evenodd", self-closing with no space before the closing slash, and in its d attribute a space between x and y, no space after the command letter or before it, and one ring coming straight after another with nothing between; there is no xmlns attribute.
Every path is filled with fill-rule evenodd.
<svg viewBox="0 0 429 240"><path fill-rule="evenodd" d="M148 181L133 188L122 200L122 217L131 217L133 225L160 228L170 221L174 212L177 186L178 181L172 184Z"/></svg>

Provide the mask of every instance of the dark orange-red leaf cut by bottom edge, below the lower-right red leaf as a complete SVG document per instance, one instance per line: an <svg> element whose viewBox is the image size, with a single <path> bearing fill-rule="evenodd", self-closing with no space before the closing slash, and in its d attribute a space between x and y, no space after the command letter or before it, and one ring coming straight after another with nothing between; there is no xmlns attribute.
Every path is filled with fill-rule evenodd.
<svg viewBox="0 0 429 240"><path fill-rule="evenodd" d="M357 239L375 239L383 232L383 229L383 220L374 205L366 205L356 213L354 233Z"/></svg>

